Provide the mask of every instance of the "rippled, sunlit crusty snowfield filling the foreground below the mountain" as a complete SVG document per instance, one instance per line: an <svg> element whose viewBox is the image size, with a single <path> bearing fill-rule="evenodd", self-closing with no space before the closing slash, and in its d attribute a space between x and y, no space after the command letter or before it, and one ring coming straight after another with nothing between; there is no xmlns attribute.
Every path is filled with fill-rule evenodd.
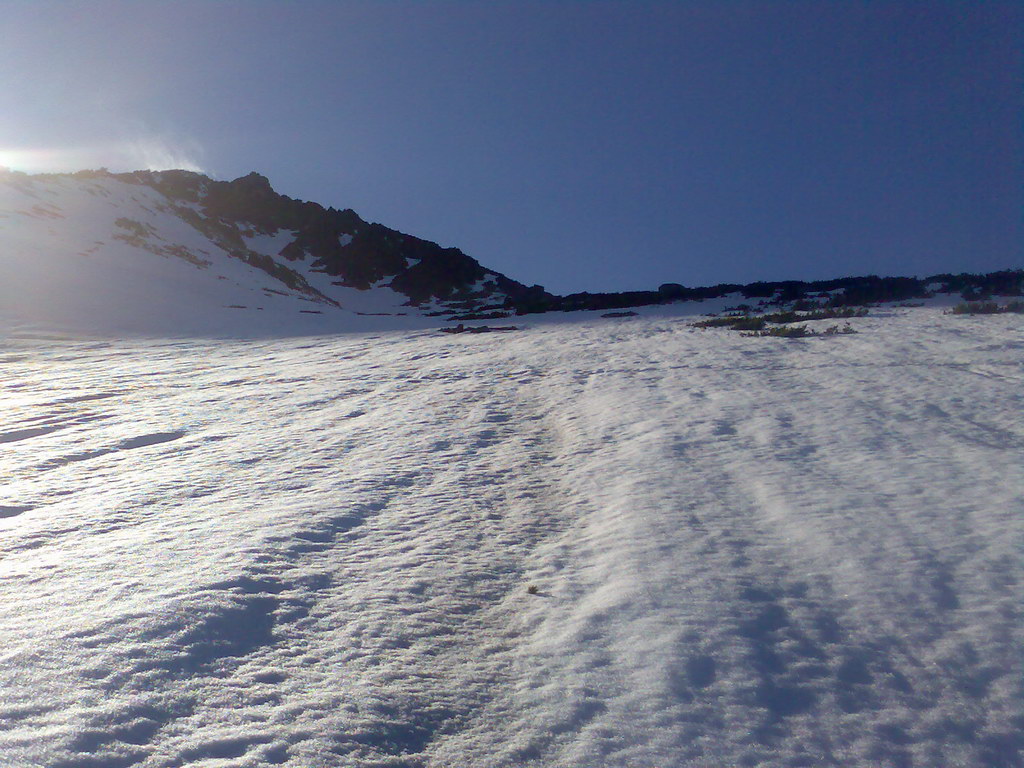
<svg viewBox="0 0 1024 768"><path fill-rule="evenodd" d="M0 765L1020 765L1020 319L853 323L9 336Z"/></svg>

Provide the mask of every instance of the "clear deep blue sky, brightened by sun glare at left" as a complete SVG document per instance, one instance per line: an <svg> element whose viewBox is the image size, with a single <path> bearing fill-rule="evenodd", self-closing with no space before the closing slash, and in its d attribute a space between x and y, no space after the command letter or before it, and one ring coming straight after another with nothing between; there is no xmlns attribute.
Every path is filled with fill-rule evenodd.
<svg viewBox="0 0 1024 768"><path fill-rule="evenodd" d="M556 293L1024 266L1016 2L0 13L15 170L255 170Z"/></svg>

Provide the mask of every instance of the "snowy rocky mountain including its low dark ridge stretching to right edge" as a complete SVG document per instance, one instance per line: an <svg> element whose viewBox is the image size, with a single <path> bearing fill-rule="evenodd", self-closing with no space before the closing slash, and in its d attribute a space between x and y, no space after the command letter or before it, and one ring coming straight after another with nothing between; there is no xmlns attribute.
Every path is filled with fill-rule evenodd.
<svg viewBox="0 0 1024 768"><path fill-rule="evenodd" d="M273 190L258 173L0 170L4 326L146 335L331 333L730 300L797 309L1024 293L1024 270L554 296L458 248Z"/></svg>

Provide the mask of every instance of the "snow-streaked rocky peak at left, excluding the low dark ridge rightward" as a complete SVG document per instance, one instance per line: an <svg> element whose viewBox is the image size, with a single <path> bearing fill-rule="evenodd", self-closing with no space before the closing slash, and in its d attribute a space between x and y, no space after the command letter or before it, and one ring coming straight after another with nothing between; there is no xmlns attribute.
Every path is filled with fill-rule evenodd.
<svg viewBox="0 0 1024 768"><path fill-rule="evenodd" d="M297 313L334 315L321 318L327 330L353 314L496 312L546 295L457 248L279 195L257 173L5 170L0 248L0 310L65 325L187 328L202 315L286 328Z"/></svg>

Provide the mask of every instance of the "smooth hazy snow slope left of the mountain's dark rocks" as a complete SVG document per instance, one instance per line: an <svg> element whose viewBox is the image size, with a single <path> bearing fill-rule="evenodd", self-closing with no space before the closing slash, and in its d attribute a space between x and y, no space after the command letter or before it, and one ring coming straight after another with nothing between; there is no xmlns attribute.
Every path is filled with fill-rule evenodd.
<svg viewBox="0 0 1024 768"><path fill-rule="evenodd" d="M143 232L144 237L133 237ZM113 178L0 183L0 321L54 331L198 335L311 327L331 309L230 257L155 189ZM260 309L263 307L263 309Z"/></svg>

